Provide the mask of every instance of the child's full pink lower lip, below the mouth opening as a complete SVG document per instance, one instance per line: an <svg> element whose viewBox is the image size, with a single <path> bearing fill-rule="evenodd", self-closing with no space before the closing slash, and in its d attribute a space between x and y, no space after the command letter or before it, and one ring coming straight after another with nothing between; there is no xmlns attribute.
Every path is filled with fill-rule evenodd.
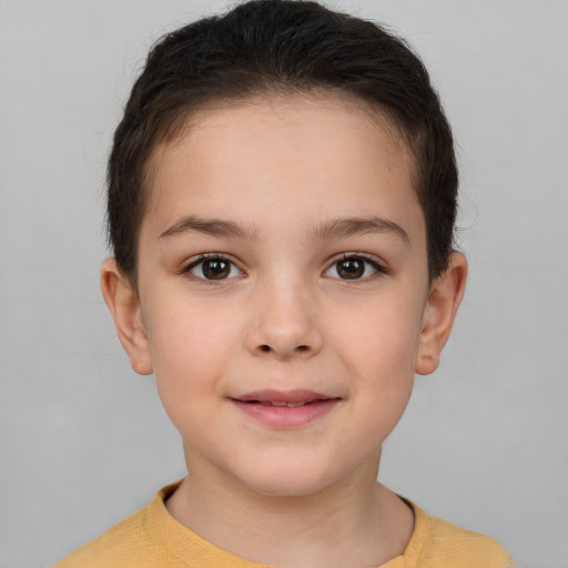
<svg viewBox="0 0 568 568"><path fill-rule="evenodd" d="M275 428L300 428L332 410L338 398L314 400L304 406L266 406L258 403L244 403L233 399L235 406L258 422Z"/></svg>

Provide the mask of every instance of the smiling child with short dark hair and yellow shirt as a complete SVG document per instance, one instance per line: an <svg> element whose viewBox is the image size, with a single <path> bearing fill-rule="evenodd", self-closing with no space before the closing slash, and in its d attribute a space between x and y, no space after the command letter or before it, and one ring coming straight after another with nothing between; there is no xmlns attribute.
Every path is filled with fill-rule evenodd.
<svg viewBox="0 0 568 568"><path fill-rule="evenodd" d="M57 568L505 568L376 481L466 281L453 140L379 27L245 2L160 41L109 162L102 291L187 476Z"/></svg>

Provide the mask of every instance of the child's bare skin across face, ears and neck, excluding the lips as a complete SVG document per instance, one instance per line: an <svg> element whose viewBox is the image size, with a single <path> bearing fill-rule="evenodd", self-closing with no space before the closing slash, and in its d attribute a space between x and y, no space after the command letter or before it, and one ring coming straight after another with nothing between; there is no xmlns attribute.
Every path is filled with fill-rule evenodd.
<svg viewBox="0 0 568 568"><path fill-rule="evenodd" d="M183 438L170 513L256 561L378 566L412 535L376 481L382 444L415 373L437 367L467 271L454 253L428 281L412 159L385 124L332 97L202 111L153 155L138 292L112 258L102 268L132 367L155 374ZM203 254L227 277L207 280L220 265ZM267 388L334 402L266 425L235 399Z"/></svg>

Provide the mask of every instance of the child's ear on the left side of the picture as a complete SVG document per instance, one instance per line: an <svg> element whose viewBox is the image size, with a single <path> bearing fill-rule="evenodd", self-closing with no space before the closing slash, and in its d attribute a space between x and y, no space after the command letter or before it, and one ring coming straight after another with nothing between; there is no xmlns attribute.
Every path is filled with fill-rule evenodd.
<svg viewBox="0 0 568 568"><path fill-rule="evenodd" d="M132 368L141 375L149 375L152 361L140 301L114 258L106 258L102 264L101 290Z"/></svg>

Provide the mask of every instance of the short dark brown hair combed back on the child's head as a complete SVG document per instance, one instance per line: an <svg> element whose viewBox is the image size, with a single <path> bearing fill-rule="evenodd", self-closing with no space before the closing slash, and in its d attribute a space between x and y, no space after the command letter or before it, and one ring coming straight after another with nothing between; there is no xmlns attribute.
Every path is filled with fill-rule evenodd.
<svg viewBox="0 0 568 568"><path fill-rule="evenodd" d="M458 174L449 124L428 73L383 27L317 2L252 0L164 36L150 51L116 128L108 168L108 229L121 271L135 281L156 144L204 104L258 93L334 91L386 112L416 161L430 280L448 263Z"/></svg>

